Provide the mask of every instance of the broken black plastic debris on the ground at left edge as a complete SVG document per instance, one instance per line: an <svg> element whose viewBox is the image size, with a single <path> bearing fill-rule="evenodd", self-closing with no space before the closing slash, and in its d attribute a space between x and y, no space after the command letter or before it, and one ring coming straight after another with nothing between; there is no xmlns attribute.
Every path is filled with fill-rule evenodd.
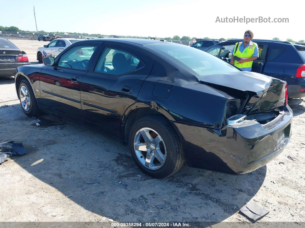
<svg viewBox="0 0 305 228"><path fill-rule="evenodd" d="M27 153L27 150L23 149L22 143L14 141L2 142L0 143L0 164L12 155L23 155L25 153Z"/></svg>

